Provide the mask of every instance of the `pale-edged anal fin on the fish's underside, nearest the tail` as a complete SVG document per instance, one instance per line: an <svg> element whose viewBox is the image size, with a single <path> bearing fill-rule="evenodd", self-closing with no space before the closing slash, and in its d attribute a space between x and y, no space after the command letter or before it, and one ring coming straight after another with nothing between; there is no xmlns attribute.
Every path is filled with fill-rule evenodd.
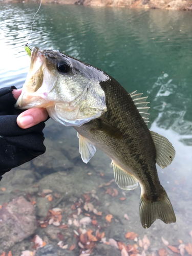
<svg viewBox="0 0 192 256"><path fill-rule="evenodd" d="M114 177L117 185L124 190L132 190L138 186L138 181L132 174L125 172L118 165L113 163Z"/></svg>

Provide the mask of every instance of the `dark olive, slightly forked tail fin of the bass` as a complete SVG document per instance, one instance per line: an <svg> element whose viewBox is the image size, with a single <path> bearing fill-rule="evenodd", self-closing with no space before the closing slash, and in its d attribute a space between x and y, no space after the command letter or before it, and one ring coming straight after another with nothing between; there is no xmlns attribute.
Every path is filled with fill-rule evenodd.
<svg viewBox="0 0 192 256"><path fill-rule="evenodd" d="M157 219L162 220L166 224L176 222L174 209L164 188L160 197L154 202L146 201L141 195L140 219L144 228L149 228Z"/></svg>

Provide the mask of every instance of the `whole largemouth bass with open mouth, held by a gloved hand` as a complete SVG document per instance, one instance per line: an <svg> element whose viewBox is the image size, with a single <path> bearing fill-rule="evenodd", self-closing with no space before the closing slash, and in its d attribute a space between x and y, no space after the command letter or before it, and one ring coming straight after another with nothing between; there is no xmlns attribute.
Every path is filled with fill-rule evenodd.
<svg viewBox="0 0 192 256"><path fill-rule="evenodd" d="M156 163L165 168L175 157L173 145L147 127L147 97L128 93L104 71L58 50L33 47L30 69L16 108L46 108L49 116L73 126L79 152L88 163L96 148L112 159L115 182L124 190L141 187L140 221L176 222L160 184Z"/></svg>

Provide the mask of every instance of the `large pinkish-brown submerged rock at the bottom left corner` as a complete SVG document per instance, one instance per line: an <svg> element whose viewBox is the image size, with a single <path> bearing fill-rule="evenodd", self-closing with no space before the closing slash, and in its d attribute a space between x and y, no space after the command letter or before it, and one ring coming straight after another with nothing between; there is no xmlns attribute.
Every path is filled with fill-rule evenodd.
<svg viewBox="0 0 192 256"><path fill-rule="evenodd" d="M23 196L0 209L0 253L31 236L36 229L34 206Z"/></svg>

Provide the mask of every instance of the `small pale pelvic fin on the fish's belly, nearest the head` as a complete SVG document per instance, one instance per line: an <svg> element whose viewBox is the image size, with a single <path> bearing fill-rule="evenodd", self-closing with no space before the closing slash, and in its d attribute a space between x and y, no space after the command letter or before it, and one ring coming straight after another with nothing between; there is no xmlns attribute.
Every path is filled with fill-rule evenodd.
<svg viewBox="0 0 192 256"><path fill-rule="evenodd" d="M91 144L90 140L77 133L79 138L79 153L84 163L88 163L89 160L94 156L96 148Z"/></svg>

